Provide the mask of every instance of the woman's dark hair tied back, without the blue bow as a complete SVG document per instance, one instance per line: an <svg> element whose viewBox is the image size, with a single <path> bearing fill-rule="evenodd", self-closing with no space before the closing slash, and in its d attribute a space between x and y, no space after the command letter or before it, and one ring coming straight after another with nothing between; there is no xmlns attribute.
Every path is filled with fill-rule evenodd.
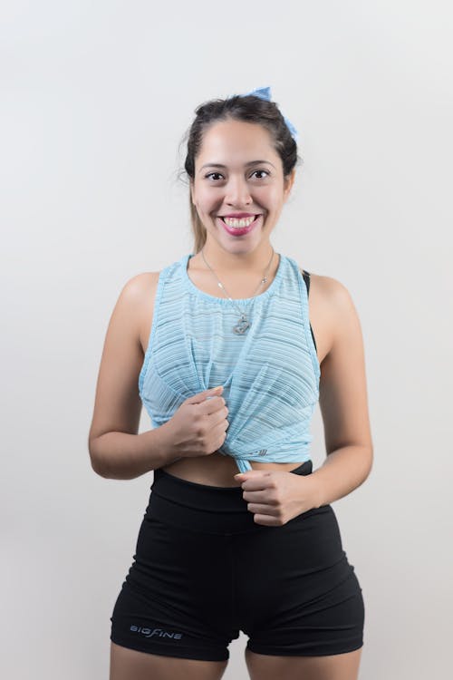
<svg viewBox="0 0 453 680"><path fill-rule="evenodd" d="M269 102L253 94L236 94L228 99L214 99L200 104L195 113L196 118L183 138L183 141L186 139L188 141L184 169L191 180L195 179L195 159L200 151L204 133L214 122L226 121L227 119L255 122L258 125L262 125L269 131L274 142L275 151L282 159L284 178L294 170L299 160L297 144L275 102ZM194 236L194 252L197 254L205 245L206 228L198 217L198 212L192 203L190 192L188 201Z"/></svg>

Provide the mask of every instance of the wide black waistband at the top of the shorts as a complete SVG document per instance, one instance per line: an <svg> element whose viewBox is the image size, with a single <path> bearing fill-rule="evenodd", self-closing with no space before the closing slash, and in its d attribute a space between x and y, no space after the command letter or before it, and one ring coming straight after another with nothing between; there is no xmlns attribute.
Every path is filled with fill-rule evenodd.
<svg viewBox="0 0 453 680"><path fill-rule="evenodd" d="M304 461L294 474L308 475L313 462ZM247 510L241 486L216 487L176 477L167 471L154 471L146 516L182 529L225 533L263 529Z"/></svg>

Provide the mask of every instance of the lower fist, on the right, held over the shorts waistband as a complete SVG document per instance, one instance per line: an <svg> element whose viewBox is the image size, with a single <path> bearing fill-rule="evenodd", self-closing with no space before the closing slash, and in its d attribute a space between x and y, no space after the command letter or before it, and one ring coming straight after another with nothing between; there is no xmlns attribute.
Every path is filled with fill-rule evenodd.
<svg viewBox="0 0 453 680"><path fill-rule="evenodd" d="M235 475L244 490L247 510L256 524L281 527L302 512L319 508L312 475L280 470L249 470Z"/></svg>

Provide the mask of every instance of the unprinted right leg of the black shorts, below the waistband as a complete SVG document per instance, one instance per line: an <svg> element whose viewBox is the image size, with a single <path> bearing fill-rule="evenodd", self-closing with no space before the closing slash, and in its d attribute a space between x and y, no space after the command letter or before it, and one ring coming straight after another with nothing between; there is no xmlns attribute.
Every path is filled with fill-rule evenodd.
<svg viewBox="0 0 453 680"><path fill-rule="evenodd" d="M363 645L361 586L330 505L237 537L236 619L247 648L271 656L335 656ZM326 663L326 662L324 662Z"/></svg>

